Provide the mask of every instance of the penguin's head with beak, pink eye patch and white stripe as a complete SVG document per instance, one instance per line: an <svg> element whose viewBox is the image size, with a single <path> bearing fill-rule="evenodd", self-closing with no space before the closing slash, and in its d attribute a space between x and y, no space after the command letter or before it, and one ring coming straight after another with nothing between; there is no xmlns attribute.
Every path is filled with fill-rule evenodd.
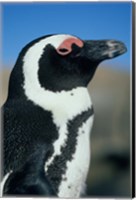
<svg viewBox="0 0 136 200"><path fill-rule="evenodd" d="M87 87L97 66L126 52L122 42L82 40L65 34L36 39L21 51L16 66L22 65L24 88L53 92Z"/></svg>

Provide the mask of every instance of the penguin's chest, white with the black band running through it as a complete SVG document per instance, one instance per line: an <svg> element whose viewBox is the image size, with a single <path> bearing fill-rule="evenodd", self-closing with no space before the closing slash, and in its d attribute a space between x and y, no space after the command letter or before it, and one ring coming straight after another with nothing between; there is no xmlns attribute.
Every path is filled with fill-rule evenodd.
<svg viewBox="0 0 136 200"><path fill-rule="evenodd" d="M80 125L79 125L80 124ZM79 197L85 186L90 163L90 110L59 129L54 153L45 164L45 172L58 197Z"/></svg>

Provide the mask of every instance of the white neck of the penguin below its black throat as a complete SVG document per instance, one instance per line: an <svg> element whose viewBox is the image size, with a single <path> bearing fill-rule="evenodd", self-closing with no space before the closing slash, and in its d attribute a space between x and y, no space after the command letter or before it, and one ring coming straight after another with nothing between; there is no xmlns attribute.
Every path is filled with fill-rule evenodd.
<svg viewBox="0 0 136 200"><path fill-rule="evenodd" d="M45 111L50 111L57 127L66 124L68 120L92 106L88 90L85 87L52 92L40 85L32 87L29 83L24 84L25 96L35 105L40 106Z"/></svg>

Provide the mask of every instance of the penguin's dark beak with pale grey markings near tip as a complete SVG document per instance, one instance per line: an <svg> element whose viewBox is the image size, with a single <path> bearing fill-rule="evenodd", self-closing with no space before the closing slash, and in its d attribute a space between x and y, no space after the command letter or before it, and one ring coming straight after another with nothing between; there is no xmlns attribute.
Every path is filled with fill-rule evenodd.
<svg viewBox="0 0 136 200"><path fill-rule="evenodd" d="M80 51L83 56L93 62L101 62L124 54L127 48L124 43L115 40L86 40Z"/></svg>

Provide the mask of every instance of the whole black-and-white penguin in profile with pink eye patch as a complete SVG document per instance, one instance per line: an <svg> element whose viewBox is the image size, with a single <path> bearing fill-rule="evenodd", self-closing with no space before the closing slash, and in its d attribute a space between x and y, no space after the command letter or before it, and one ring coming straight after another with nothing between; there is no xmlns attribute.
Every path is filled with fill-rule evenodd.
<svg viewBox="0 0 136 200"><path fill-rule="evenodd" d="M20 52L3 105L3 196L78 198L90 164L98 65L126 52L116 40L40 37Z"/></svg>

